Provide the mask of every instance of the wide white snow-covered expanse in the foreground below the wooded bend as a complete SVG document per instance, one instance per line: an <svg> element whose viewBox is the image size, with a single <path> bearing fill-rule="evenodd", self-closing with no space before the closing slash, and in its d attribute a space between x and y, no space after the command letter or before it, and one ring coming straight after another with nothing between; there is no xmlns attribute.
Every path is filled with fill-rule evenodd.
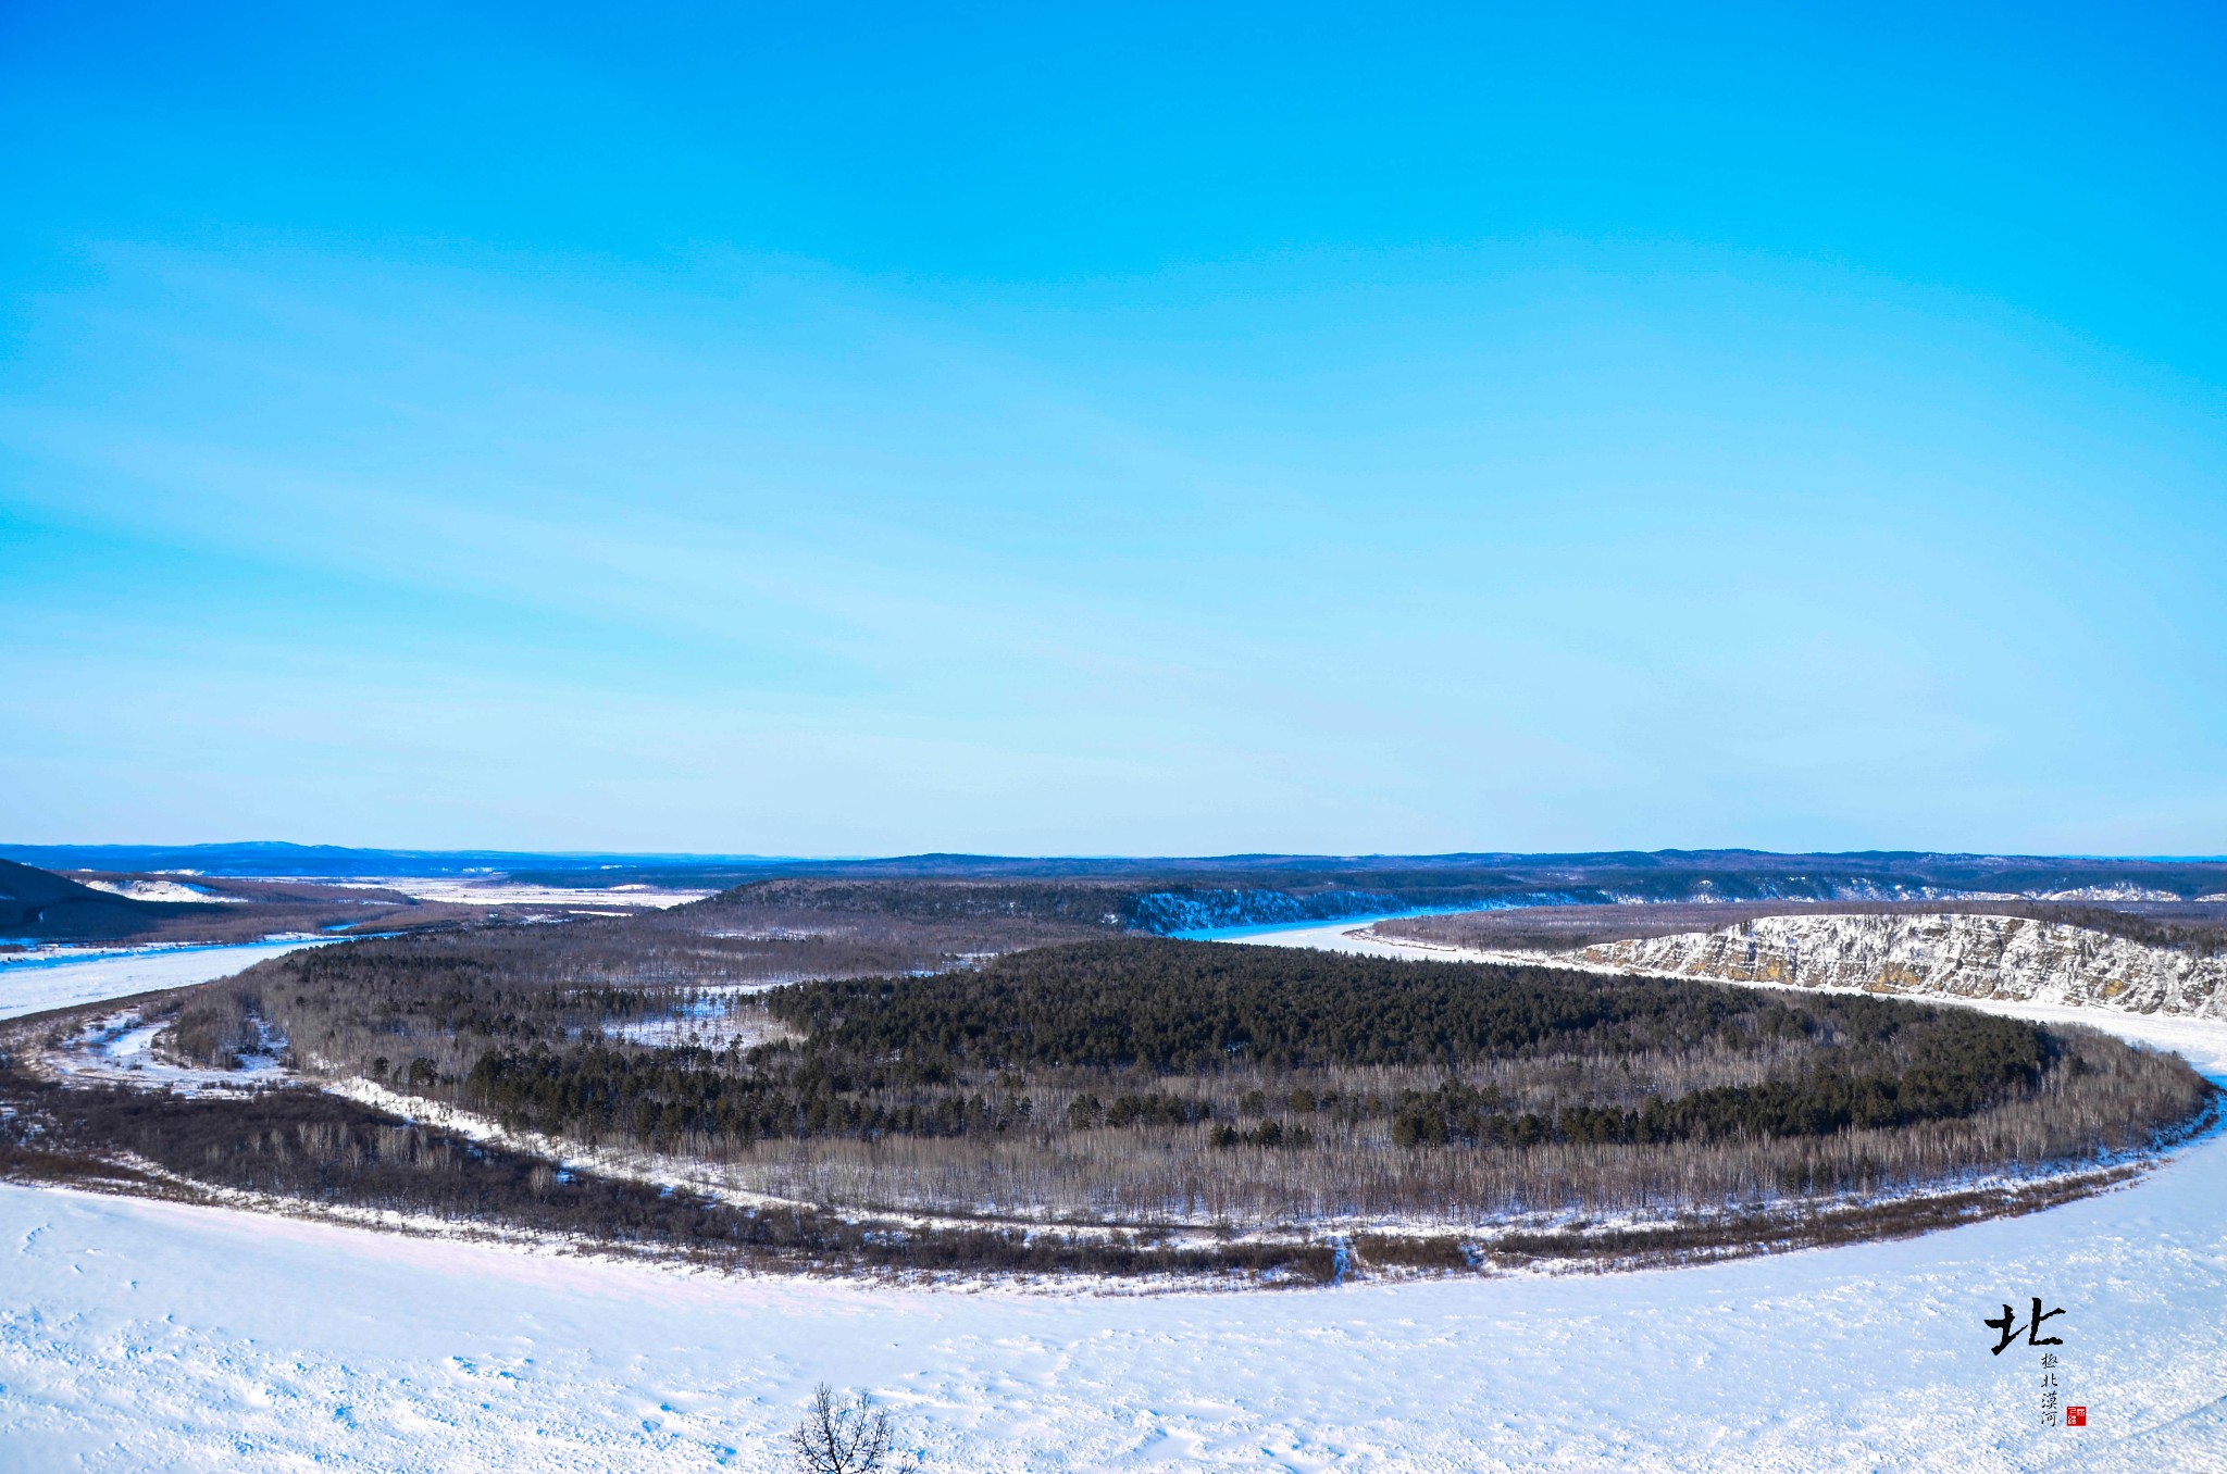
<svg viewBox="0 0 2227 1474"><path fill-rule="evenodd" d="M2227 1024L2176 1042L2227 1075ZM4 1470L775 1470L817 1380L929 1470L2227 1470L2218 1136L2029 1218L1603 1278L895 1291L13 1187L0 1262ZM1989 1354L2031 1296L2087 1427Z"/></svg>

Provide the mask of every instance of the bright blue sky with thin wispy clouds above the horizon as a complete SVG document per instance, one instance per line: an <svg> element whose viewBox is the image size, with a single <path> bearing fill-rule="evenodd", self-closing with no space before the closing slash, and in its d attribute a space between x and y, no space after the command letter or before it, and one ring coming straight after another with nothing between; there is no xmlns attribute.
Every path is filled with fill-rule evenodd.
<svg viewBox="0 0 2227 1474"><path fill-rule="evenodd" d="M2200 7L0 7L0 837L2227 848Z"/></svg>

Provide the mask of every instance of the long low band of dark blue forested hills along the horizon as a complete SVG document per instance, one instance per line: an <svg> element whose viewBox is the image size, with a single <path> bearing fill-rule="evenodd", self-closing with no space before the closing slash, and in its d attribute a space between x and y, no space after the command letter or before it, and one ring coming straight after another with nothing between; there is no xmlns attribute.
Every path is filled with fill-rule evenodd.
<svg viewBox="0 0 2227 1474"><path fill-rule="evenodd" d="M4 846L0 857L105 873L194 871L209 877L508 877L541 886L726 891L746 906L884 913L1105 917L1183 933L1263 922L1494 906L1724 902L2049 900L2116 908L2227 897L2218 859L1953 855L1857 851L1590 851L1568 855L1203 855L1011 857L895 855L530 855L517 851L367 851L307 844ZM808 882L757 893L764 882ZM871 886L873 895L860 891ZM953 911L958 908L958 911ZM1096 922L1093 922L1096 924Z"/></svg>

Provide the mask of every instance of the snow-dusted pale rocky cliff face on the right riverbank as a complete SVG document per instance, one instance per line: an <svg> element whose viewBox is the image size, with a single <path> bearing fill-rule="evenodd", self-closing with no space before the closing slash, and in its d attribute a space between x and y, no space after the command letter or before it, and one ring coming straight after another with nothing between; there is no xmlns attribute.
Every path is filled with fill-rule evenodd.
<svg viewBox="0 0 2227 1474"><path fill-rule="evenodd" d="M1601 942L1574 955L1681 977L2227 1020L2227 955L2004 915L1762 917L1724 931Z"/></svg>

